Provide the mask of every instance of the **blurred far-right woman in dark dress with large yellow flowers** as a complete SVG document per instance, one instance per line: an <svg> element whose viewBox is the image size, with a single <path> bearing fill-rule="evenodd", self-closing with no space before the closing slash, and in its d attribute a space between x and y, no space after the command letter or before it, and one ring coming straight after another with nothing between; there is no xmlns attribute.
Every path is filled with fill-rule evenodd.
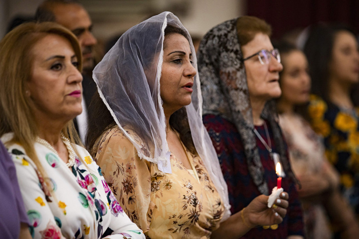
<svg viewBox="0 0 359 239"><path fill-rule="evenodd" d="M355 34L343 26L309 29L304 52L312 78L310 123L324 137L326 156L341 175L341 189L359 215L359 108L350 96L359 82Z"/></svg>

